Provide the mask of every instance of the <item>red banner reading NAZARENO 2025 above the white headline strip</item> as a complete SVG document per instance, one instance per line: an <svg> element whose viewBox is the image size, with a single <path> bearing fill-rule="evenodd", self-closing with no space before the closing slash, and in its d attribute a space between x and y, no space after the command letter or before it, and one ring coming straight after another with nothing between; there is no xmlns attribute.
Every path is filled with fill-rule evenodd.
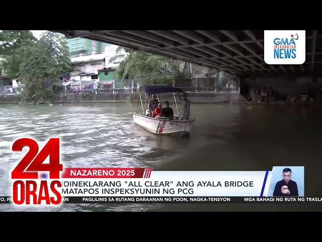
<svg viewBox="0 0 322 242"><path fill-rule="evenodd" d="M149 178L151 168L64 168L61 178Z"/></svg>

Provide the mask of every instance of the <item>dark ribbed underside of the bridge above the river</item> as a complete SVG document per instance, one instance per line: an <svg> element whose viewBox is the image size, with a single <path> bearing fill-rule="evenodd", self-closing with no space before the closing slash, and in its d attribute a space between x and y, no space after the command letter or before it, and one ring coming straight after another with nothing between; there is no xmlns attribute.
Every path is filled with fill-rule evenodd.
<svg viewBox="0 0 322 242"><path fill-rule="evenodd" d="M92 40L147 51L236 76L322 75L322 31L306 30L302 65L264 62L263 30L52 30L68 38ZM318 35L320 33L320 35Z"/></svg>

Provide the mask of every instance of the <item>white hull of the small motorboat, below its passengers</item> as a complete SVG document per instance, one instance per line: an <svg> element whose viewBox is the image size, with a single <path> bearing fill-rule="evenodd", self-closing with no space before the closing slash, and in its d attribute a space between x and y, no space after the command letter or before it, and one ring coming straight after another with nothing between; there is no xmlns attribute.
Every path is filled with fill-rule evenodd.
<svg viewBox="0 0 322 242"><path fill-rule="evenodd" d="M134 123L146 131L153 134L168 134L168 135L186 135L189 134L194 119L164 119L152 118L141 114L133 113Z"/></svg>

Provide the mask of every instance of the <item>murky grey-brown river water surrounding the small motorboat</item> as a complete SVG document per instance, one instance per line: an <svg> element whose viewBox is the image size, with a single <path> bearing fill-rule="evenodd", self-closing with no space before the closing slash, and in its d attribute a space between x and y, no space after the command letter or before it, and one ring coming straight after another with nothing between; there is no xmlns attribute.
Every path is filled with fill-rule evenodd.
<svg viewBox="0 0 322 242"><path fill-rule="evenodd" d="M160 137L135 126L136 104L0 106L0 195L11 196L10 171L22 137L61 138L67 167L152 167L154 170L266 170L305 166L305 196L322 197L322 112L289 105L192 104L188 138ZM322 211L322 206L235 204L65 204L0 211Z"/></svg>

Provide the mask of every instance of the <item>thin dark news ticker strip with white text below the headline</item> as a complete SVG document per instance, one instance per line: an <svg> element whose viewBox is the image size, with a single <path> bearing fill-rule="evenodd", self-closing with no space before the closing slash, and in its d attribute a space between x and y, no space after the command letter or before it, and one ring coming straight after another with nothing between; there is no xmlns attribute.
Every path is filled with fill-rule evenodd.
<svg viewBox="0 0 322 242"><path fill-rule="evenodd" d="M32 201L32 197L30 198ZM279 204L322 202L322 197L63 197L65 204L150 204L150 203L236 203ZM0 197L0 204L13 203L11 197Z"/></svg>

